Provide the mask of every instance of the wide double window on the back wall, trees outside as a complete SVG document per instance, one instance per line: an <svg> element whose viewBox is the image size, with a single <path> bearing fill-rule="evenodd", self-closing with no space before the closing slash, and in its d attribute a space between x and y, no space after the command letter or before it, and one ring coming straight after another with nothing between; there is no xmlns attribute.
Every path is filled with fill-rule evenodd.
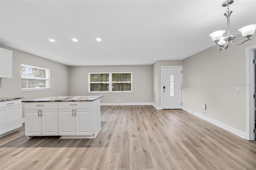
<svg viewBox="0 0 256 170"><path fill-rule="evenodd" d="M132 72L88 73L88 93L132 92Z"/></svg>

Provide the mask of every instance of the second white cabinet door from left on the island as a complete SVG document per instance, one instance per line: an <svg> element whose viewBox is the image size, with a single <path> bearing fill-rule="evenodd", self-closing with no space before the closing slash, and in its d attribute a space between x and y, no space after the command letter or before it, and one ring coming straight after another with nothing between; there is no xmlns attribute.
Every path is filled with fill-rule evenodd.
<svg viewBox="0 0 256 170"><path fill-rule="evenodd" d="M41 110L42 136L58 136L58 109Z"/></svg>

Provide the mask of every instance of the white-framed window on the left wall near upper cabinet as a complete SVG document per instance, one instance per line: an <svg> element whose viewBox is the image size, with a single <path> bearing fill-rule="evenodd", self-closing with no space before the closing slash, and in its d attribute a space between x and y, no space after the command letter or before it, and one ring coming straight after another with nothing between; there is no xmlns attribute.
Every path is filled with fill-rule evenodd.
<svg viewBox="0 0 256 170"><path fill-rule="evenodd" d="M21 91L50 89L50 69L21 64Z"/></svg>

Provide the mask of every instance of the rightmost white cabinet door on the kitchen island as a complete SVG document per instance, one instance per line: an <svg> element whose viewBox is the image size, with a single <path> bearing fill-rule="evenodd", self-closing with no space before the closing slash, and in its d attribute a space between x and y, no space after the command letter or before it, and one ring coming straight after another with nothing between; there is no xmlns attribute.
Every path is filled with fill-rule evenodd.
<svg viewBox="0 0 256 170"><path fill-rule="evenodd" d="M92 135L91 109L76 109L76 136Z"/></svg>

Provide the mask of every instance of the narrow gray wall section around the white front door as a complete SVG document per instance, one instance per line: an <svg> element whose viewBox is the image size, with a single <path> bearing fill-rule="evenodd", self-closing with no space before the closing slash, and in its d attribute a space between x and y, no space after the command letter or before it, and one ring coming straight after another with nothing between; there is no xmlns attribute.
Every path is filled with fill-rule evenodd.
<svg viewBox="0 0 256 170"><path fill-rule="evenodd" d="M181 66L181 60L158 60L152 65L152 102L161 107L161 66Z"/></svg>

